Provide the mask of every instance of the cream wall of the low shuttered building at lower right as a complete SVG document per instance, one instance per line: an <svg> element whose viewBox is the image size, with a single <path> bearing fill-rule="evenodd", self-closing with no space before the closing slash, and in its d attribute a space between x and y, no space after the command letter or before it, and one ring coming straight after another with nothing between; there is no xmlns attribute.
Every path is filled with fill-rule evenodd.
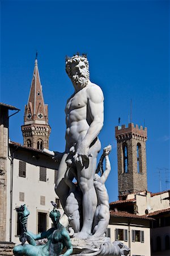
<svg viewBox="0 0 170 256"><path fill-rule="evenodd" d="M111 229L111 241L115 241L115 230L116 229L127 229L128 232L128 242L123 242L126 246L130 247L130 254L132 255L151 255L151 247L150 247L150 228L143 228L138 226L130 226L127 225L108 225L108 228ZM131 241L131 230L141 230L144 231L144 243L142 242L132 242Z"/></svg>

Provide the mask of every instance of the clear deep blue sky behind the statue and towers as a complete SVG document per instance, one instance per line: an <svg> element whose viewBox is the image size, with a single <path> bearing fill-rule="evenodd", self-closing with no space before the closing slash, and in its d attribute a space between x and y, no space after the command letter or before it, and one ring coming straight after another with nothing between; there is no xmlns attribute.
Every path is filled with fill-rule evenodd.
<svg viewBox="0 0 170 256"><path fill-rule="evenodd" d="M65 104L73 85L65 56L86 52L90 79L104 92L102 146L112 144L110 201L117 200L114 127L132 121L148 128L148 191L169 175L169 1L1 1L1 102L21 111L10 119L10 138L23 143L20 126L38 51L49 104L50 149L65 148ZM145 120L145 121L144 121ZM167 170L168 169L168 170Z"/></svg>

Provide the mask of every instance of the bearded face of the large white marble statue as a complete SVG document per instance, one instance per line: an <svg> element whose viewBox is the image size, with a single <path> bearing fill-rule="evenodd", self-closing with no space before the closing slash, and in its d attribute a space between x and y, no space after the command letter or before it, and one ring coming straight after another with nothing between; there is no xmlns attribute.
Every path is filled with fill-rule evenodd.
<svg viewBox="0 0 170 256"><path fill-rule="evenodd" d="M88 84L89 71L84 61L79 63L72 63L71 65L71 81L75 86L80 88L85 87Z"/></svg>

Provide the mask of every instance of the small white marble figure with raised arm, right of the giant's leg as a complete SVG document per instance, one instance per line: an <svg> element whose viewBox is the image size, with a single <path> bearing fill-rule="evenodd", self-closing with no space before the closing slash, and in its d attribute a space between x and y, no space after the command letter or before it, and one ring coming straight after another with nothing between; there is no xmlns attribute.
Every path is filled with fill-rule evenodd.
<svg viewBox="0 0 170 256"><path fill-rule="evenodd" d="M95 212L94 218L94 235L93 238L101 237L105 233L110 220L109 212L109 196L105 187L105 181L107 180L111 171L111 163L109 161L109 152L111 146L104 148L105 155L105 171L101 176L95 174L94 185L97 193L98 205Z"/></svg>

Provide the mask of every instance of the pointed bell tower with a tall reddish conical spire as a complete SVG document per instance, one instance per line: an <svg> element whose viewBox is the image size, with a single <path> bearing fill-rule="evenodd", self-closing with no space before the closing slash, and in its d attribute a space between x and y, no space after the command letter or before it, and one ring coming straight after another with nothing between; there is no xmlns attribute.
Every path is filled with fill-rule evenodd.
<svg viewBox="0 0 170 256"><path fill-rule="evenodd" d="M25 147L39 150L49 148L48 105L44 104L37 59L35 60L28 103L25 105L22 132Z"/></svg>

